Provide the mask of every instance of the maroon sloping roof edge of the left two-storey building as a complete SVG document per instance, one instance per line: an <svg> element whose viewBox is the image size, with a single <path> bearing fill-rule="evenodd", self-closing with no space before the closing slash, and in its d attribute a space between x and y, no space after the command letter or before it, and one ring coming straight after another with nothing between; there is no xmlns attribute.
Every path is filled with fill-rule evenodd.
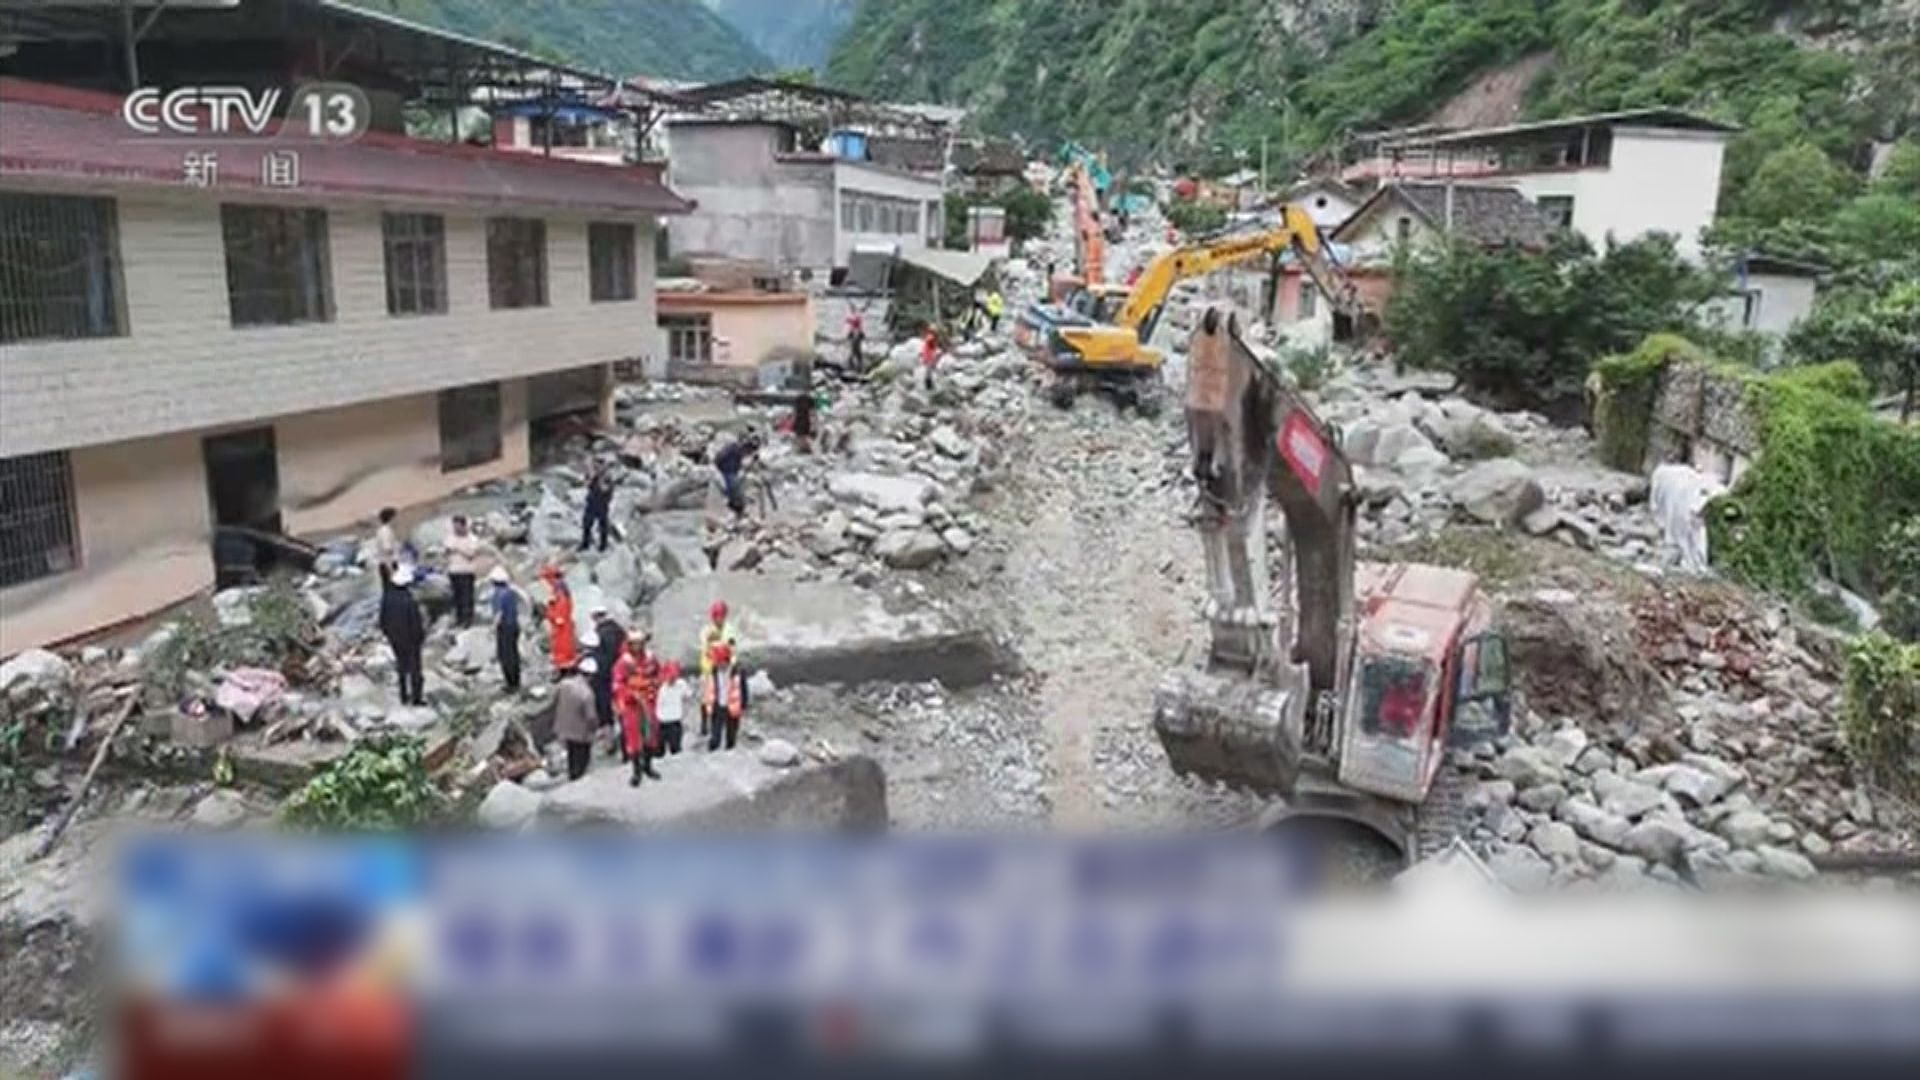
<svg viewBox="0 0 1920 1080"><path fill-rule="evenodd" d="M555 208L685 213L691 202L660 183L657 165L593 165L540 154L369 133L355 142L303 136L144 136L129 131L119 100L44 83L0 79L0 177L92 184L171 186L209 196L407 202L422 206ZM300 183L261 183L273 150L300 156ZM184 158L217 156L215 183L184 183Z"/></svg>

